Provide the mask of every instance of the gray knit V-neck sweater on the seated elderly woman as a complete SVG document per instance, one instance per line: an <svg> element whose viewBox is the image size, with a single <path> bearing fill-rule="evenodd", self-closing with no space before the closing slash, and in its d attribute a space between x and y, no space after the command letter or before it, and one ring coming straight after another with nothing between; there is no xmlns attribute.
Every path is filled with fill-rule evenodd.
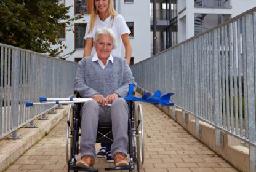
<svg viewBox="0 0 256 172"><path fill-rule="evenodd" d="M104 69L98 61L92 61L92 57L79 61L74 91L78 91L83 98L90 98L95 94L101 94L106 98L111 93L118 93L121 97L127 96L129 83L137 84L126 60L113 58L113 63L109 61Z"/></svg>

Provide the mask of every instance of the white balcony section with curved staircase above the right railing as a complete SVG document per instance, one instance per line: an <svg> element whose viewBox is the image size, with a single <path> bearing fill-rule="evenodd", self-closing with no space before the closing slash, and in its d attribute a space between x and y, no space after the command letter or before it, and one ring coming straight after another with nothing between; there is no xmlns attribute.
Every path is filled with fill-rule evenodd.
<svg viewBox="0 0 256 172"><path fill-rule="evenodd" d="M178 0L178 42L256 6L255 0Z"/></svg>

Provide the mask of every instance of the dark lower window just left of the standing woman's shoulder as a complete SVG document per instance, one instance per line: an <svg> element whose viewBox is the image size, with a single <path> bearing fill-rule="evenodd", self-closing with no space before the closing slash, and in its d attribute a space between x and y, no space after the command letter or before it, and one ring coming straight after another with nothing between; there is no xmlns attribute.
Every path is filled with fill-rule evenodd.
<svg viewBox="0 0 256 172"><path fill-rule="evenodd" d="M83 49L86 41L84 40L86 33L86 23L78 23L74 25L74 47L75 49Z"/></svg>

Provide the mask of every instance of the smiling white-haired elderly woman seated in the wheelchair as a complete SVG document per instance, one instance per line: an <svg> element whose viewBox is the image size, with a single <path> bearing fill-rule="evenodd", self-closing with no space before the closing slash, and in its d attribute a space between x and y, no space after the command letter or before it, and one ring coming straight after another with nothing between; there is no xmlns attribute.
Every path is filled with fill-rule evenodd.
<svg viewBox="0 0 256 172"><path fill-rule="evenodd" d="M110 170L131 170L134 169L133 161L129 164L126 157L127 149L129 148L129 153L133 152L130 150L133 149L131 144L136 144L136 141L133 141L134 143L130 141L131 133L134 132L130 131L134 129L134 117L129 119L129 113L133 113L130 111L132 108L130 106L134 105L127 103L122 97L127 96L129 84L136 85L136 83L126 60L111 55L111 50L116 47L116 38L111 29L99 29L95 35L94 46L95 55L83 58L79 62L74 79L74 91L82 98L92 98L84 103L79 112L81 159L75 163L75 166L92 170L96 157L98 123L111 123L113 132L111 154L114 164L124 168ZM133 120L132 125L129 124L130 120ZM135 159L130 157L130 160L133 158Z"/></svg>

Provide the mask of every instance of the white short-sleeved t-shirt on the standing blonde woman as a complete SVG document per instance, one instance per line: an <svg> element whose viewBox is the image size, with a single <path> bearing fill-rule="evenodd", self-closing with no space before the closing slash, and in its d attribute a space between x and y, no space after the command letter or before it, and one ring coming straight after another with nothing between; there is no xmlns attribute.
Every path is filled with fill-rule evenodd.
<svg viewBox="0 0 256 172"><path fill-rule="evenodd" d="M98 15L97 15L97 18L94 23L94 28L92 29L92 31L90 33L88 33L89 28L90 28L90 22L87 23L86 34L84 36L84 39L87 39L87 37L91 37L93 39L93 41L95 41L95 33L96 33L97 29L100 29L103 27L112 29L114 34L116 34L116 43L118 46L112 50L111 54L114 57L121 57L121 48L122 48L121 36L122 36L122 34L125 34L125 33L130 34L130 29L128 28L128 26L126 24L126 20L124 20L124 17L122 17L122 15L118 14L114 17L113 25L112 25L111 16L106 18L105 21L102 21L102 20L100 20L100 17L98 17ZM91 55L94 55L95 52L96 52L95 47L93 45Z"/></svg>

